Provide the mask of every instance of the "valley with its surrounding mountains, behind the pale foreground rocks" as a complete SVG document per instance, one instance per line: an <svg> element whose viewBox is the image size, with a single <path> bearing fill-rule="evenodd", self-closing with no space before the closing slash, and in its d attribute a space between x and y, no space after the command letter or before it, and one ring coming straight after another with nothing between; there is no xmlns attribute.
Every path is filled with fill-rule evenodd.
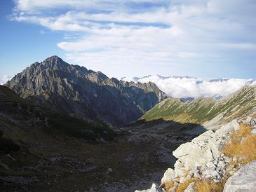
<svg viewBox="0 0 256 192"><path fill-rule="evenodd" d="M160 184L167 168L177 170L173 151L255 114L255 97L256 85L247 85L220 100L166 98L154 83L119 81L48 57L0 85L1 190Z"/></svg>

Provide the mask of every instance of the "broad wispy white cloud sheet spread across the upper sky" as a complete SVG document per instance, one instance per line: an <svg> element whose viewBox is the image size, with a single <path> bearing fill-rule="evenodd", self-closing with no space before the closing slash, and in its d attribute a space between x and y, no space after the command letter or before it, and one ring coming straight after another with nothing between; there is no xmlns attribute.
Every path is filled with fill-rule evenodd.
<svg viewBox="0 0 256 192"><path fill-rule="evenodd" d="M255 10L250 0L16 0L11 19L65 32L57 46L69 61L119 76L251 63Z"/></svg>

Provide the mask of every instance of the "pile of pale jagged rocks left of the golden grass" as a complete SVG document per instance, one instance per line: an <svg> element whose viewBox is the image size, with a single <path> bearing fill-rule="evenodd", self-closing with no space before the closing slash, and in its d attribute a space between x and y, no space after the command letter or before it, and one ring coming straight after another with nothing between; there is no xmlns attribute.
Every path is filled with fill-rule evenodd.
<svg viewBox="0 0 256 192"><path fill-rule="evenodd" d="M256 119L247 118L245 121L231 121L215 132L208 130L198 137L181 144L173 156L177 158L174 169L168 168L161 179L161 186L171 182L174 187L169 191L175 191L175 186L184 183L191 178L210 179L215 183L234 174L236 169L231 161L236 161L236 157L228 158L222 153L224 146L230 142L230 133L239 130L239 123L251 125L252 134L256 133ZM193 191L194 184L189 184L187 191ZM164 189L162 188L164 191Z"/></svg>

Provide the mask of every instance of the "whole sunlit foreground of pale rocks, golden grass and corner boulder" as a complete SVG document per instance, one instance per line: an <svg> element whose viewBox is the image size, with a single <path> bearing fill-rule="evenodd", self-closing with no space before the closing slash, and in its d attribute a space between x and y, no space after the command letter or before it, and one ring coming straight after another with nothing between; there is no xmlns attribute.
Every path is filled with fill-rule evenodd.
<svg viewBox="0 0 256 192"><path fill-rule="evenodd" d="M256 191L256 119L231 121L181 144L161 184L143 192ZM139 192L139 191L136 191Z"/></svg>

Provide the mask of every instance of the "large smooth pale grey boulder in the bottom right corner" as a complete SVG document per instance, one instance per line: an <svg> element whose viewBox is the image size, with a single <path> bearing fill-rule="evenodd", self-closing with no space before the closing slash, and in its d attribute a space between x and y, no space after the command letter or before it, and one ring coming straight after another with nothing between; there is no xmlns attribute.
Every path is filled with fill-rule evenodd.
<svg viewBox="0 0 256 192"><path fill-rule="evenodd" d="M227 179L224 192L255 192L256 191L256 160L241 167Z"/></svg>

